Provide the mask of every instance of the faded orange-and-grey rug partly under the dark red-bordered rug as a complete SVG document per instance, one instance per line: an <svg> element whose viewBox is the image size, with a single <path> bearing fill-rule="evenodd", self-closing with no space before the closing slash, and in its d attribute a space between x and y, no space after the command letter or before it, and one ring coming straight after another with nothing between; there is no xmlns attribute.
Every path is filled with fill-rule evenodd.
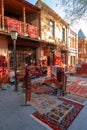
<svg viewBox="0 0 87 130"><path fill-rule="evenodd" d="M58 99L53 99L49 95L32 94L31 97L31 105L41 114L49 112L58 104L60 104L60 102L58 102Z"/></svg>

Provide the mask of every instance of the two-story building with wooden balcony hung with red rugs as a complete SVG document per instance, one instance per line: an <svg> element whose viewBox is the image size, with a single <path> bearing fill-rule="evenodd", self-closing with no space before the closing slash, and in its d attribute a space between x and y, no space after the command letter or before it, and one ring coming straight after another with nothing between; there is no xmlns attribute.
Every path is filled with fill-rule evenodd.
<svg viewBox="0 0 87 130"><path fill-rule="evenodd" d="M36 64L40 10L26 0L0 0L0 55L6 57L9 67L13 67L14 59L11 30L18 32L17 66L23 65L26 59L29 64Z"/></svg>

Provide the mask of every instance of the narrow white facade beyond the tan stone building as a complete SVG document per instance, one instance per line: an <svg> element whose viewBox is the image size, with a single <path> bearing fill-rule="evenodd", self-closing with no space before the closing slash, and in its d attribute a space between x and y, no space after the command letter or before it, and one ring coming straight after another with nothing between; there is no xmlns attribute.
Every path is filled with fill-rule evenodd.
<svg viewBox="0 0 87 130"><path fill-rule="evenodd" d="M68 28L68 67L74 67L78 63L78 34Z"/></svg>

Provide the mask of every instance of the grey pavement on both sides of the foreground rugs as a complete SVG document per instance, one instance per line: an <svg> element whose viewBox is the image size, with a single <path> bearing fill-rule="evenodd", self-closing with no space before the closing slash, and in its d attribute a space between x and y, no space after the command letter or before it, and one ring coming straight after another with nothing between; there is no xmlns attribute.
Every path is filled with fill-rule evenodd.
<svg viewBox="0 0 87 130"><path fill-rule="evenodd" d="M48 130L44 125L35 121L31 114L36 110L32 106L23 106L25 95L22 90L13 91L11 86L8 90L0 91L0 130ZM79 97L66 95L67 98L79 101ZM87 100L81 98L84 108L72 122L68 130L87 129Z"/></svg>

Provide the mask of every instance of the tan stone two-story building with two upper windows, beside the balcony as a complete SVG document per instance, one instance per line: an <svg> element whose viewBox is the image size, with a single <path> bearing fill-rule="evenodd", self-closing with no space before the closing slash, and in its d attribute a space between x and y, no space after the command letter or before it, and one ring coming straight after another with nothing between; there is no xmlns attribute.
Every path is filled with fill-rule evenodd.
<svg viewBox="0 0 87 130"><path fill-rule="evenodd" d="M40 53L38 58L47 60L48 65L67 64L67 28L69 24L41 0L36 2L36 6L41 9L41 48L38 50Z"/></svg>

